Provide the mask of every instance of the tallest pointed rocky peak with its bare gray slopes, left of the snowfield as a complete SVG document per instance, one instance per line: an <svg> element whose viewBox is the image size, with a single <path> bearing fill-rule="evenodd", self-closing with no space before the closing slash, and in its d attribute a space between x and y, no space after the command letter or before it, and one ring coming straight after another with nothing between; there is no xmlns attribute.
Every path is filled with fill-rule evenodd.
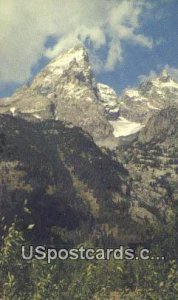
<svg viewBox="0 0 178 300"><path fill-rule="evenodd" d="M95 141L108 138L112 142L113 128L107 115L110 110L113 115L113 105L101 105L106 103L106 94L106 89L95 82L87 51L78 46L51 61L30 86L2 99L0 112L61 120L83 128ZM115 97L116 102L113 91L107 96L109 100Z"/></svg>

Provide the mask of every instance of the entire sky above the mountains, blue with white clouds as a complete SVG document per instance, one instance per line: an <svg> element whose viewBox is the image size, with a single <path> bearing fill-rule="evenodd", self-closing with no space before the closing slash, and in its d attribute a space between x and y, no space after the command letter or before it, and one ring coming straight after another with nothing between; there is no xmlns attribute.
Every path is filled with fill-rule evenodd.
<svg viewBox="0 0 178 300"><path fill-rule="evenodd" d="M138 85L140 76L159 73L165 66L178 78L177 0L46 3L43 7L42 0L0 4L1 97L30 81L78 39L90 45L91 60L98 65L97 81L118 93Z"/></svg>

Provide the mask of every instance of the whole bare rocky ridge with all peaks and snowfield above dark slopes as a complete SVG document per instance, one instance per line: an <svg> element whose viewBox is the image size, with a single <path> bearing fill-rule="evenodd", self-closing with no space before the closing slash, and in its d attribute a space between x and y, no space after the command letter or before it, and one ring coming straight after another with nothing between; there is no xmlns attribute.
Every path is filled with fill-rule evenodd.
<svg viewBox="0 0 178 300"><path fill-rule="evenodd" d="M86 49L77 46L52 60L30 86L1 99L0 113L61 120L113 148L119 137L139 132L151 115L176 103L178 83L165 70L118 98L112 88L96 83Z"/></svg>

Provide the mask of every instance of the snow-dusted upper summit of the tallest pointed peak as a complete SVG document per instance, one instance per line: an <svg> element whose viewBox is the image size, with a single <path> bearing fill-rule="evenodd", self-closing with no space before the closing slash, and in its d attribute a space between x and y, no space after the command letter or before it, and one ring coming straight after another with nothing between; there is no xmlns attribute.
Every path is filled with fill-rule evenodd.
<svg viewBox="0 0 178 300"><path fill-rule="evenodd" d="M42 94L49 95L57 87L73 85L77 82L94 84L94 78L87 50L81 44L62 51L34 78L32 89L40 88Z"/></svg>

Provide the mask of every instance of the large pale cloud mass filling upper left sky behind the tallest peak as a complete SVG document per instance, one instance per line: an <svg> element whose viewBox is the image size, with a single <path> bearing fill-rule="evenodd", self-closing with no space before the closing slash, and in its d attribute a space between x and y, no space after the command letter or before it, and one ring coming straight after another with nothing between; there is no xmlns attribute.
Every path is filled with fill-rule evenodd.
<svg viewBox="0 0 178 300"><path fill-rule="evenodd" d="M6 0L0 1L0 82L22 83L40 57L50 58L65 48L89 40L93 58L108 48L105 62L96 69L113 70L122 60L122 41L153 47L152 39L138 33L144 0ZM45 49L49 36L57 37Z"/></svg>

